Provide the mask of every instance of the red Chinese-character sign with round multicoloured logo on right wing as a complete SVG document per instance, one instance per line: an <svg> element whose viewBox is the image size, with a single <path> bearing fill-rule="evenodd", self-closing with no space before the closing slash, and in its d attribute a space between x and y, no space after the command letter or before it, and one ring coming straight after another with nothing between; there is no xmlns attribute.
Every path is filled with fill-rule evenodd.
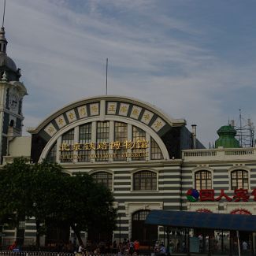
<svg viewBox="0 0 256 256"><path fill-rule="evenodd" d="M239 188L234 190L234 194L230 197L225 192L224 189L217 194L215 194L214 189L201 189L197 191L196 189L189 189L187 191L187 200L189 202L196 201L220 201L221 198L226 199L228 202L248 202L250 196L253 197L254 201L256 201L256 188L253 191L248 192L247 189Z"/></svg>

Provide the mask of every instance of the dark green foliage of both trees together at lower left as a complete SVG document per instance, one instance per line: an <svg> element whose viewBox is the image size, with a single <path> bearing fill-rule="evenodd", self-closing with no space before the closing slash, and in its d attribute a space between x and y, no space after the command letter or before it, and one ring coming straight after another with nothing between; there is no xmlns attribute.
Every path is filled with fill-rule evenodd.
<svg viewBox="0 0 256 256"><path fill-rule="evenodd" d="M46 161L32 165L17 158L0 171L0 222L17 224L20 217L35 217L39 236L46 231L45 223L69 224L80 243L80 231L113 230L113 201L111 191L91 176L69 176L60 165Z"/></svg>

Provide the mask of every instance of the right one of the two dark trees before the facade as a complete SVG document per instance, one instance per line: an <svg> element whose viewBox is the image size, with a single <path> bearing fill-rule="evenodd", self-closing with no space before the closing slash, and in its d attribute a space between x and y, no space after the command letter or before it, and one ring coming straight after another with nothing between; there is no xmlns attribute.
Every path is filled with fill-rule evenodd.
<svg viewBox="0 0 256 256"><path fill-rule="evenodd" d="M91 176L78 173L65 182L65 193L59 201L61 210L56 215L59 221L69 223L81 245L81 231L98 228L99 231L113 231L117 210L114 198L103 184L96 184Z"/></svg>

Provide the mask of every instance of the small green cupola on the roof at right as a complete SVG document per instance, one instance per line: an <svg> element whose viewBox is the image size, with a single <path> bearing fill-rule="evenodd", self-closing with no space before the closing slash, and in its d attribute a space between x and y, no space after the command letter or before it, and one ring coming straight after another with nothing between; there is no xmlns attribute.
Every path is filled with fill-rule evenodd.
<svg viewBox="0 0 256 256"><path fill-rule="evenodd" d="M239 147L239 141L235 139L236 130L230 124L221 126L217 130L217 134L219 135L219 139L215 141L215 147Z"/></svg>

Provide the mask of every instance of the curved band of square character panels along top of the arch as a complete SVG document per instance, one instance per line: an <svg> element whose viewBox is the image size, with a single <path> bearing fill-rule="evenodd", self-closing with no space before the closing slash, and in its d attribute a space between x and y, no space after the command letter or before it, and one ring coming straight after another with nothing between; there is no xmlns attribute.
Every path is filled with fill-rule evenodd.
<svg viewBox="0 0 256 256"><path fill-rule="evenodd" d="M80 112L80 110L83 111ZM174 119L173 117L169 117L169 115L164 113L161 109L158 109L148 102L122 96L102 95L71 102L50 114L50 116L46 117L46 119L36 128L28 129L28 132L32 134L39 133L46 128L47 124L50 124L51 122L56 124L56 119L58 119L58 117L63 117L64 123L55 125L57 130L73 121L95 116L100 118L107 116L132 118L141 121L144 124L148 124L150 128L153 128L156 132L159 132L166 126L166 124L171 127L184 126L186 124L184 119ZM154 125L156 122L152 121L157 121L158 124L158 121L162 122L161 125L157 125L156 128Z"/></svg>

